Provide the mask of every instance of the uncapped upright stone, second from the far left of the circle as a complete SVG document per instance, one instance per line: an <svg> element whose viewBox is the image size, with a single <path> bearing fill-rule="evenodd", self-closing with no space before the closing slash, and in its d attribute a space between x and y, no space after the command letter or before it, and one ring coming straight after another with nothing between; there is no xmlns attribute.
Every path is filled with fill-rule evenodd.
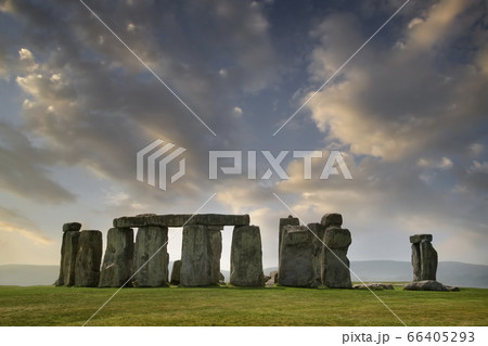
<svg viewBox="0 0 488 346"><path fill-rule="evenodd" d="M99 285L102 243L102 232L95 230L80 232L75 266L76 286L97 287Z"/></svg>

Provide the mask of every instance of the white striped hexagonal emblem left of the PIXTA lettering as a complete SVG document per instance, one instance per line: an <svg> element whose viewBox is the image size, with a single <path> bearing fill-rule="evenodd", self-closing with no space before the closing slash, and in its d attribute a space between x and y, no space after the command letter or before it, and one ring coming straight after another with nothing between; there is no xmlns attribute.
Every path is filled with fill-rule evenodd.
<svg viewBox="0 0 488 346"><path fill-rule="evenodd" d="M140 150L137 154L137 179L144 182L147 178L147 184L156 187L156 180L158 180L158 188L166 191L167 166L187 150L184 148L176 148L172 143L164 144L164 141L158 139ZM175 150L174 150L175 149ZM146 175L144 167L147 168ZM170 183L174 183L178 179L184 176L185 159L180 159L178 171L170 177ZM156 179L156 172L159 172L158 179Z"/></svg>

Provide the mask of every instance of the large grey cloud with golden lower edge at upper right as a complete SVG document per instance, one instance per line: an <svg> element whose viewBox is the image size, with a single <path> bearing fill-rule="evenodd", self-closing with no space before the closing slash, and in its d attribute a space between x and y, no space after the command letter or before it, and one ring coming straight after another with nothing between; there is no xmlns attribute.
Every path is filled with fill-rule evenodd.
<svg viewBox="0 0 488 346"><path fill-rule="evenodd" d="M473 68L476 65L449 61L445 52L454 50L459 40L485 49L486 42L476 42L473 28L481 16L476 14L479 7L483 4L468 7L459 1L434 4L422 24L410 29L407 25L397 41L402 42L401 48L370 43L309 103L318 128L329 140L350 145L355 154L386 161L401 159L425 148L446 148L444 133L460 127L466 137L473 136L473 129L484 123L479 110L487 103L473 101L472 95L480 95L487 80ZM354 51L349 41L357 48L365 40L352 22L350 14L335 14L319 26L314 35L321 44L312 53L312 80L324 80L335 72ZM402 21L398 22L396 25L401 25ZM462 34L466 31L471 35ZM458 53L476 64L477 57L470 52ZM436 131L439 121L442 131Z"/></svg>

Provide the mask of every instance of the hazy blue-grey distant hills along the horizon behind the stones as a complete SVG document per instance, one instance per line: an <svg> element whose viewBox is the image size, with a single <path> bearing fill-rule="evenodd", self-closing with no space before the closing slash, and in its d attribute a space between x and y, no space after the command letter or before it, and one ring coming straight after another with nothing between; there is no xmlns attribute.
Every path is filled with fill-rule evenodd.
<svg viewBox="0 0 488 346"><path fill-rule="evenodd" d="M171 272L172 262L169 264ZM277 268L266 268L265 274ZM408 261L365 260L352 261L351 270L363 281L411 281L412 265ZM0 266L0 285L51 285L57 279L59 266L3 265ZM229 271L222 270L226 281ZM352 281L358 281L351 275ZM488 266L470 265L458 261L441 261L437 280L444 284L461 287L488 289Z"/></svg>

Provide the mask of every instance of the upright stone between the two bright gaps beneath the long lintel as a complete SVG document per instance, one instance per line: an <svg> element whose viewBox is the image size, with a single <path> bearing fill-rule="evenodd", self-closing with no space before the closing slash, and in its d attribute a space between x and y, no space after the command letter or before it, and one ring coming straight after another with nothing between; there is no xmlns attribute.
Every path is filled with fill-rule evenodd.
<svg viewBox="0 0 488 346"><path fill-rule="evenodd" d="M180 283L187 287L217 284L213 270L208 228L204 225L183 227Z"/></svg>

